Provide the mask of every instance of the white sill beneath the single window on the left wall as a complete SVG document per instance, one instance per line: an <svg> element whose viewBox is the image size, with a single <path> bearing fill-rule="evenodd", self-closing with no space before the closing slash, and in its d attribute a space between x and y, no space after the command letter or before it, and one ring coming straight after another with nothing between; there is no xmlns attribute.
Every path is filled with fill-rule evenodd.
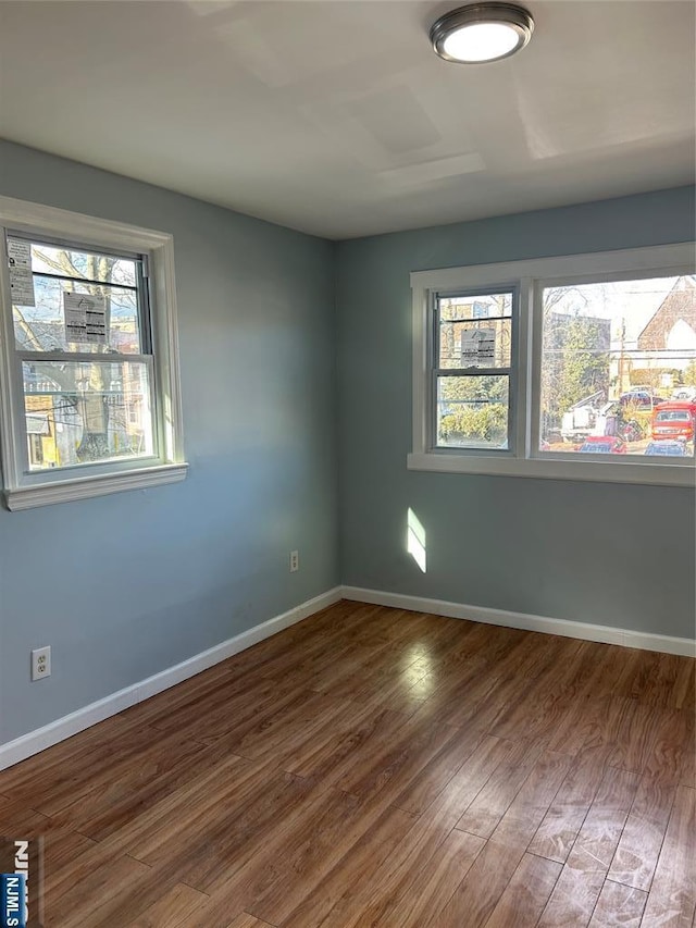
<svg viewBox="0 0 696 928"><path fill-rule="evenodd" d="M36 506L50 506L54 503L71 503L74 499L88 499L92 496L105 496L124 490L147 490L165 483L178 483L184 480L187 463L167 463L121 473L82 477L60 483L42 483L34 486L18 486L5 490L8 509L34 509Z"/></svg>

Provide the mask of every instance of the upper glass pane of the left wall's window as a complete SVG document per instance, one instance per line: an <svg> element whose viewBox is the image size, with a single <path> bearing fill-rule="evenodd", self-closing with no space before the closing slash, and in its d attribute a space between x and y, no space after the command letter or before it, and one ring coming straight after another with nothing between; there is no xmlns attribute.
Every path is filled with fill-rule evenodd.
<svg viewBox="0 0 696 928"><path fill-rule="evenodd" d="M142 354L136 290L34 275L36 306L13 307L15 345L20 351ZM79 334L79 309L65 294L95 297L97 325ZM87 319L83 312L83 321Z"/></svg>

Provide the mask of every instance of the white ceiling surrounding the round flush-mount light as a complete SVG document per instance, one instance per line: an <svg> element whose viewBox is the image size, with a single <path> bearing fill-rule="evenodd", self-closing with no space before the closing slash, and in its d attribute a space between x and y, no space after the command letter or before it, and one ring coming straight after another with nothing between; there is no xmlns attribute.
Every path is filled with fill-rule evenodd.
<svg viewBox="0 0 696 928"><path fill-rule="evenodd" d="M331 238L694 180L694 2L530 0L486 65L457 5L0 2L0 135Z"/></svg>

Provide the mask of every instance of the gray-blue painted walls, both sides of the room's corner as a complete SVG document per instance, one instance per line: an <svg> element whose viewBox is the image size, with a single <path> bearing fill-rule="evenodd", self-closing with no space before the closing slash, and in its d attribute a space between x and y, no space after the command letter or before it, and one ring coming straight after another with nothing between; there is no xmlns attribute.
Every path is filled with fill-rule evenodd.
<svg viewBox="0 0 696 928"><path fill-rule="evenodd" d="M0 743L338 582L694 634L691 491L406 468L411 271L682 242L692 189L338 246L8 143L0 194L174 235L191 466L0 509ZM45 644L52 676L32 684Z"/></svg>

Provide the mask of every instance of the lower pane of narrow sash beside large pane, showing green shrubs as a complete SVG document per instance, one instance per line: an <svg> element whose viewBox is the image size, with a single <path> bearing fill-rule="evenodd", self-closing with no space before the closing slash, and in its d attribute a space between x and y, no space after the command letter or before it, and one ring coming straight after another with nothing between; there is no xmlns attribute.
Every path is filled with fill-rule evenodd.
<svg viewBox="0 0 696 928"><path fill-rule="evenodd" d="M437 379L438 447L508 447L510 384L504 376Z"/></svg>

